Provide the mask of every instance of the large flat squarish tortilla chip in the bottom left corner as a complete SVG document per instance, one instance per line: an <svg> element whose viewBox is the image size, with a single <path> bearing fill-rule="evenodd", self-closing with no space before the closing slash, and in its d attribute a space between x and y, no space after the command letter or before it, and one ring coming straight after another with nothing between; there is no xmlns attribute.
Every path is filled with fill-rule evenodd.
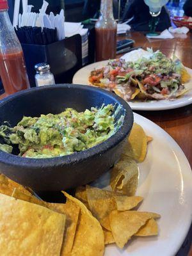
<svg viewBox="0 0 192 256"><path fill-rule="evenodd" d="M60 255L65 215L0 194L0 216L3 255Z"/></svg>

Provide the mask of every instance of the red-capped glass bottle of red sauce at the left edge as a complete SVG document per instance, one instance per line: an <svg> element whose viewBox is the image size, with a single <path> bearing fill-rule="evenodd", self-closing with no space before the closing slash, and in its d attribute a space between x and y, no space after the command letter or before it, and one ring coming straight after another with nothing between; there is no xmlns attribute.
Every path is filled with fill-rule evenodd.
<svg viewBox="0 0 192 256"><path fill-rule="evenodd" d="M4 97L29 88L29 80L22 47L10 21L6 0L0 0L0 24L0 76Z"/></svg>

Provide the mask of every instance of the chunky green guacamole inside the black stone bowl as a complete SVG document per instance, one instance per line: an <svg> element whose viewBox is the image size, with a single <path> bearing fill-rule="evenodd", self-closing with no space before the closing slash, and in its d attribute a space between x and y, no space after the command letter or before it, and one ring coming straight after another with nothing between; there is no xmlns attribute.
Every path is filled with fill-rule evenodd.
<svg viewBox="0 0 192 256"><path fill-rule="evenodd" d="M66 156L91 148L107 140L115 131L112 104L77 112L67 108L58 115L24 116L15 126L1 125L0 136L6 144L0 149L12 152L19 145L22 157Z"/></svg>

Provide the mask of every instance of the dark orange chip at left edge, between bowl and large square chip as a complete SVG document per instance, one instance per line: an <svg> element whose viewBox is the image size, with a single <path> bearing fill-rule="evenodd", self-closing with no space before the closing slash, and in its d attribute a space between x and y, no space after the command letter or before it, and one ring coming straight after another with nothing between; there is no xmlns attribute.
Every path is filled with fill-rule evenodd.
<svg viewBox="0 0 192 256"><path fill-rule="evenodd" d="M31 195L31 193L24 188L24 186L20 185L19 183L9 179L3 173L0 174L0 193L4 195L11 196L13 193L14 188L19 189L26 195Z"/></svg>

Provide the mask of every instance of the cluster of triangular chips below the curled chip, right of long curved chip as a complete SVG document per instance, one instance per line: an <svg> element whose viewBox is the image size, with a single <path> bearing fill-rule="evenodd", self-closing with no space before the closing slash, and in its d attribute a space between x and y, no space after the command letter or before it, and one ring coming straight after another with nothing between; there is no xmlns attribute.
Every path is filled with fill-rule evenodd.
<svg viewBox="0 0 192 256"><path fill-rule="evenodd" d="M81 188L82 189L82 188ZM143 200L141 196L127 196L86 185L88 209L97 218L104 232L104 243L123 248L132 236L154 236L158 234L154 212L133 211ZM79 191L76 197L81 198Z"/></svg>

